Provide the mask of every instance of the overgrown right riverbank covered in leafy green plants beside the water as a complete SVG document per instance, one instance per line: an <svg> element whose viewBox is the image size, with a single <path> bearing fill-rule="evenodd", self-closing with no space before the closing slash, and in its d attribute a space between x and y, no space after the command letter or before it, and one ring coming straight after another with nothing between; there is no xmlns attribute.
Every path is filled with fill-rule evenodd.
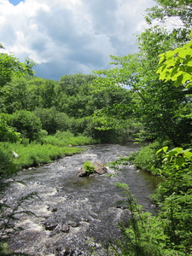
<svg viewBox="0 0 192 256"><path fill-rule="evenodd" d="M161 183L155 190L153 200L160 208L157 215L134 222L131 228L124 229L123 234L138 234L125 243L120 241L121 252L126 251L127 241L139 241L132 247L132 252L143 252L142 255L192 255L192 236L189 224L191 218L191 177L192 148L172 148L170 143L150 143L139 152L126 158L137 167L158 175ZM137 212L137 219L143 219L143 212ZM146 221L146 219L148 219ZM158 227L158 229L156 229ZM146 231L147 230L147 231ZM124 236L123 236L124 237ZM157 250L157 251L154 251ZM146 253L144 253L146 252ZM155 253L156 252L156 253ZM125 255L131 255L130 252ZM139 254L140 255L140 254Z"/></svg>

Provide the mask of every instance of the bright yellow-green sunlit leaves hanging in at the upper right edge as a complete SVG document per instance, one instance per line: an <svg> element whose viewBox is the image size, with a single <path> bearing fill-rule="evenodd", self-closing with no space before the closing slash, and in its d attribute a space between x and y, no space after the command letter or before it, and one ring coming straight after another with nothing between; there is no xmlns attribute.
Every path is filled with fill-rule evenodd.
<svg viewBox="0 0 192 256"><path fill-rule="evenodd" d="M192 37L192 32L190 33ZM169 50L160 55L160 68L157 73L160 74L160 80L173 81L176 87L183 86L183 93L186 95L188 102L188 111L183 113L184 122L183 137L191 139L192 122L191 122L191 88L192 88L192 40L188 44L184 44L182 48ZM187 109L187 108L185 108ZM181 127L181 125L180 125ZM186 136L186 133L188 134ZM189 143L189 142L188 142Z"/></svg>

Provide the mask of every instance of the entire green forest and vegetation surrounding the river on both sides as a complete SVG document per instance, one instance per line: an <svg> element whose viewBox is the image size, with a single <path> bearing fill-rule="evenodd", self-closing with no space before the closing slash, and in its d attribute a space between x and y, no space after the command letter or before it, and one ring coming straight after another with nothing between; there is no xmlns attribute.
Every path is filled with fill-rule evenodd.
<svg viewBox="0 0 192 256"><path fill-rule="evenodd" d="M192 255L192 3L155 1L138 52L111 55L108 70L54 81L35 77L32 60L0 54L2 186L21 168L82 150L69 145L145 143L113 165L131 162L160 176L153 195L159 212L143 212L118 184L131 218L110 255ZM0 254L9 255L1 238Z"/></svg>

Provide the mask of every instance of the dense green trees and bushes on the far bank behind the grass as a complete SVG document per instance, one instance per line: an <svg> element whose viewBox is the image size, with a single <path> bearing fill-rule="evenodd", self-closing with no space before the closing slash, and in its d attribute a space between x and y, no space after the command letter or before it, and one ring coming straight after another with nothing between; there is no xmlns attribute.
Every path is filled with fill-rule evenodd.
<svg viewBox="0 0 192 256"><path fill-rule="evenodd" d="M39 137L41 129L53 135L56 131L84 134L102 142L123 140L127 131L99 131L99 119L92 114L102 108L110 108L117 102L129 102L125 89L108 92L92 92L90 84L95 75L65 75L59 82L34 77L14 78L2 88L0 111L2 119L15 131L30 141ZM30 121L28 126L27 120ZM22 120L23 119L23 120ZM40 122L39 122L40 121ZM128 125L127 125L128 126ZM117 137L117 138L116 138Z"/></svg>

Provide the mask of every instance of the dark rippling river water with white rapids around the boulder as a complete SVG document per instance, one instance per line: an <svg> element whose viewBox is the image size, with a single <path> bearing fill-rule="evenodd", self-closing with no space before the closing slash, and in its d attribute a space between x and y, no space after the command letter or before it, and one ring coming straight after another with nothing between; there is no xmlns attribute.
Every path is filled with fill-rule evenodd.
<svg viewBox="0 0 192 256"><path fill-rule="evenodd" d="M16 227L23 228L9 242L18 253L40 256L107 255L102 248L119 234L119 220L129 216L123 205L121 189L114 183L127 183L131 194L143 208L152 212L150 195L154 192L154 178L134 166L123 166L118 175L78 177L76 173L87 160L107 164L119 155L127 156L137 146L91 145L84 153L64 157L47 166L39 166L18 174L22 183L12 184L6 192L6 203L38 192L41 200L24 202L22 210L37 216L20 214ZM117 172L108 168L109 173ZM94 253L91 249L95 248Z"/></svg>

